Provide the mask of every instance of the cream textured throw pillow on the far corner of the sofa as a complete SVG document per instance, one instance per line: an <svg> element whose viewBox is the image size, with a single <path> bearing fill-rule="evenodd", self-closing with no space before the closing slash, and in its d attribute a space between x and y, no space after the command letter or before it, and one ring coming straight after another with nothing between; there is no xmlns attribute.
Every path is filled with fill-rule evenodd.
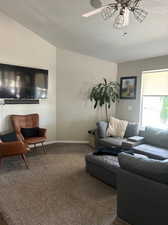
<svg viewBox="0 0 168 225"><path fill-rule="evenodd" d="M107 129L107 136L123 138L125 135L127 125L128 121L110 117L109 127Z"/></svg>

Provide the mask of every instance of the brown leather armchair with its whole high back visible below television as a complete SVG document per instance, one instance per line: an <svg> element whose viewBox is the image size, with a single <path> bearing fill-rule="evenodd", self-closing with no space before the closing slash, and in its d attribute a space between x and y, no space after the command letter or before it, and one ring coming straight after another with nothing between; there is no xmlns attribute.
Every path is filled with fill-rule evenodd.
<svg viewBox="0 0 168 225"><path fill-rule="evenodd" d="M29 114L29 115L11 115L11 122L14 130L17 133L19 140L25 142L28 145L34 145L36 148L36 144L41 144L44 152L46 149L44 147L44 142L46 141L46 132L47 130L44 128L39 128L39 136L24 138L21 133L21 128L34 128L39 127L39 115L38 114Z"/></svg>

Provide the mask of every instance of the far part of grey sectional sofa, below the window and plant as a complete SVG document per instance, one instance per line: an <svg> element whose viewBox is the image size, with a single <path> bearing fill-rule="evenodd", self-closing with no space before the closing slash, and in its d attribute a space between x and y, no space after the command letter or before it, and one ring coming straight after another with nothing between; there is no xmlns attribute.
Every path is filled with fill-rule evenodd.
<svg viewBox="0 0 168 225"><path fill-rule="evenodd" d="M133 148L135 153L147 155L154 159L168 158L168 130L146 127L145 131L138 131L138 124L128 123L124 138L107 137L108 123L100 121L97 123L96 129L96 146L97 147L124 147L128 138L141 135L143 141L135 142L128 141L128 146Z"/></svg>

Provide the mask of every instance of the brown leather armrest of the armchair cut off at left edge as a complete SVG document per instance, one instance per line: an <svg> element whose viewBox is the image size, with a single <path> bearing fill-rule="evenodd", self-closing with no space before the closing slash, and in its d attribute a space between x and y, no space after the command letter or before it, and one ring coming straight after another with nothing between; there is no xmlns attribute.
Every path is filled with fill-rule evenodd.
<svg viewBox="0 0 168 225"><path fill-rule="evenodd" d="M11 156L27 152L27 145L21 141L0 143L0 156Z"/></svg>

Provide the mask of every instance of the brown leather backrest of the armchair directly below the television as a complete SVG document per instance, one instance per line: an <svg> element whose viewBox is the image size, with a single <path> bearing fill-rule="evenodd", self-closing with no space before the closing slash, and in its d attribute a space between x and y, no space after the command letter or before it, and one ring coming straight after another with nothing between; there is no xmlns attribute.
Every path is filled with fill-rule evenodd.
<svg viewBox="0 0 168 225"><path fill-rule="evenodd" d="M21 128L39 127L38 114L11 115L10 118L13 125L13 129L17 132L20 132Z"/></svg>

